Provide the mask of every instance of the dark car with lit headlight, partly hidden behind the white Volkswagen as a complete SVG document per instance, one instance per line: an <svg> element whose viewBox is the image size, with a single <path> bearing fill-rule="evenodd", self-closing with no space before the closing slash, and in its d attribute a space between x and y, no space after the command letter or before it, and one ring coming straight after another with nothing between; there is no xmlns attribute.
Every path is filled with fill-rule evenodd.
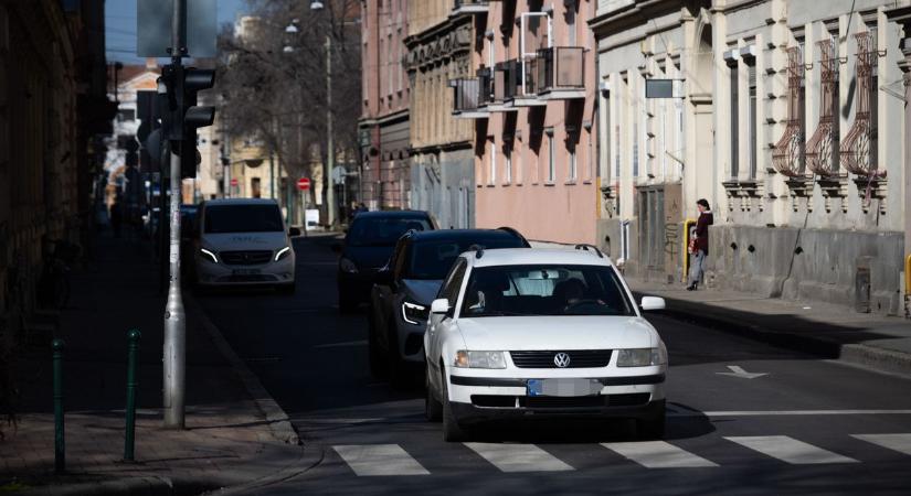
<svg viewBox="0 0 911 496"><path fill-rule="evenodd" d="M431 302L455 259L472 249L529 248L517 230L452 229L406 233L377 274L370 294L370 368L403 378L424 362L423 339Z"/></svg>

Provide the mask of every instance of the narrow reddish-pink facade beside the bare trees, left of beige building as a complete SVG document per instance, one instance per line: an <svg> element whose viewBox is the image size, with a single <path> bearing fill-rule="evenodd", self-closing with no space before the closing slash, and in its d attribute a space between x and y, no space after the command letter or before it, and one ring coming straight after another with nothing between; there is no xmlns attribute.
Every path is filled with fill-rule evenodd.
<svg viewBox="0 0 911 496"><path fill-rule="evenodd" d="M406 0L366 0L361 17L361 198L370 209L411 205Z"/></svg>

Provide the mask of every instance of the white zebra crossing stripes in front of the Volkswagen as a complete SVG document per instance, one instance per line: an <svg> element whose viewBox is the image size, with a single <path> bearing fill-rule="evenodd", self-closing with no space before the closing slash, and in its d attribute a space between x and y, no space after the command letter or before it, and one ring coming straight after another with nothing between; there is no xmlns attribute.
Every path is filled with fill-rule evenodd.
<svg viewBox="0 0 911 496"><path fill-rule="evenodd" d="M873 449L887 450L900 457L911 456L911 433L850 434L852 440ZM746 449L758 460L776 460L788 465L824 465L862 463L862 460L835 453L787 435L723 436L731 448ZM571 464L537 444L464 443L470 452L502 473L570 472ZM447 445L454 446L454 445ZM455 445L458 446L458 445ZM616 463L616 455L648 470L719 470L721 463L691 453L667 441L608 442L582 444L580 450L601 450L604 464ZM399 444L345 444L332 450L357 476L431 475L417 459ZM614 456L612 457L611 454Z"/></svg>

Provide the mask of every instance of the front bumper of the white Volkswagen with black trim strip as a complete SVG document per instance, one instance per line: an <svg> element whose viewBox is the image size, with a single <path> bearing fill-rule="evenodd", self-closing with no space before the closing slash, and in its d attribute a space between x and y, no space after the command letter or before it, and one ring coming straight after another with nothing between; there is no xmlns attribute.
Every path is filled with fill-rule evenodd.
<svg viewBox="0 0 911 496"><path fill-rule="evenodd" d="M649 418L664 411L666 370L648 369L635 376L582 376L601 382L601 390L596 395L570 397L528 396L528 380L532 377L453 374L448 376L449 401L459 422L468 423L510 418Z"/></svg>

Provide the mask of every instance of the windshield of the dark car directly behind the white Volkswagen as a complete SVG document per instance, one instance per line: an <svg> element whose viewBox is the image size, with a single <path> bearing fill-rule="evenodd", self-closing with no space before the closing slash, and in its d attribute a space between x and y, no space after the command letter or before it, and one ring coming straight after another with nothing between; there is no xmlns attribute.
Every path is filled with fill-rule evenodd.
<svg viewBox="0 0 911 496"><path fill-rule="evenodd" d="M409 249L409 260L404 268L404 279L443 279L453 267L453 262L472 245L485 249L522 248L522 240L513 236L466 236L465 239L421 240Z"/></svg>

